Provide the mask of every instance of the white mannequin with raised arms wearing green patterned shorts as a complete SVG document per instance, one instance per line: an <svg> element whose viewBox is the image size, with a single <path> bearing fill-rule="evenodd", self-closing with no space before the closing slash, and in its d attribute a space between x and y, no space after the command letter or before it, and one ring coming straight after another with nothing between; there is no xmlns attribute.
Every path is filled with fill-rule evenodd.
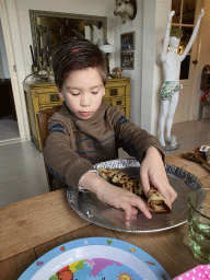
<svg viewBox="0 0 210 280"><path fill-rule="evenodd" d="M175 11L172 11L168 14L168 22L167 22L167 27L165 32L163 52L161 55L161 61L163 63L163 72L164 72L164 84L161 90L162 104L161 104L161 113L160 113L160 119L159 119L159 140L162 147L165 147L165 140L170 143L172 142L171 131L172 131L173 118L176 110L176 106L178 104L179 90L183 88L183 85L179 82L180 62L185 59L185 57L187 56L189 49L191 48L196 39L198 30L200 26L200 21L205 14L205 10L201 9L200 14L198 16L198 21L191 34L190 40L187 44L182 55L176 54L176 49L179 45L182 34L178 34L177 37L170 34L171 21L174 14L175 14ZM168 45L170 45L170 50L167 51ZM165 131L166 135L164 139L164 127L165 127L166 117L167 117L166 131Z"/></svg>

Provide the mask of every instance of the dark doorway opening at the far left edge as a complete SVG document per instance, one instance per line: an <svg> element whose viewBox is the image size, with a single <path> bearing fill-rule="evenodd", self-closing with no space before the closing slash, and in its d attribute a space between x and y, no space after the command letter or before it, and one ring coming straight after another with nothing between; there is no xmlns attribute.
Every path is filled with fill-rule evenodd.
<svg viewBox="0 0 210 280"><path fill-rule="evenodd" d="M0 19L0 142L19 138L16 110Z"/></svg>

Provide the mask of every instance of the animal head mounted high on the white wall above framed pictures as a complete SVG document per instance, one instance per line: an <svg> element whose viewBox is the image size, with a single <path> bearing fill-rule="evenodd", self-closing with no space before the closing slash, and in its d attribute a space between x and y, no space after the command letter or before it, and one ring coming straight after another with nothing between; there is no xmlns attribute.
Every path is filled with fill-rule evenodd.
<svg viewBox="0 0 210 280"><path fill-rule="evenodd" d="M135 20L137 15L137 0L116 0L115 15L121 16L121 22L125 24L127 16Z"/></svg>

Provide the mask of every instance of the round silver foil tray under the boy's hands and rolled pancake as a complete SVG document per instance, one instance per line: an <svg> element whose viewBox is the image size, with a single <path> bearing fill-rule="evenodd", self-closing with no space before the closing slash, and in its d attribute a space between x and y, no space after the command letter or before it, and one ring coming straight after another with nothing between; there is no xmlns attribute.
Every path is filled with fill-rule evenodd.
<svg viewBox="0 0 210 280"><path fill-rule="evenodd" d="M130 176L139 178L140 163L132 159L102 162L94 165L94 167L96 170L98 167L124 170ZM67 199L80 217L109 230L136 233L168 230L187 221L188 196L190 191L202 188L202 185L196 176L179 167L166 164L165 170L170 184L178 194L172 207L172 214L152 212L152 219L147 219L139 212L136 219L128 222L122 210L103 203L90 191L79 191L69 187Z"/></svg>

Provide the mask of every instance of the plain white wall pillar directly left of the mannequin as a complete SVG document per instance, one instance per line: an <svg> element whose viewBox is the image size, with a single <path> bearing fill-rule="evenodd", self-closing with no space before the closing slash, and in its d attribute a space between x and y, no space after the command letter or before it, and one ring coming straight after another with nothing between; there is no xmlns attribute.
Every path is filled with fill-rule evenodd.
<svg viewBox="0 0 210 280"><path fill-rule="evenodd" d="M141 127L156 135L162 66L156 63L165 34L171 0L147 0L143 10Z"/></svg>

